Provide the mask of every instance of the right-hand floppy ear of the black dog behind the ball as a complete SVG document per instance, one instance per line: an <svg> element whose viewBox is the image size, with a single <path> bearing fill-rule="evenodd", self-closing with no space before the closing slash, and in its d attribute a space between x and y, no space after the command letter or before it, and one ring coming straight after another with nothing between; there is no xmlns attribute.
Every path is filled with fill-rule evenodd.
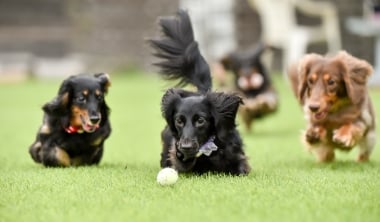
<svg viewBox="0 0 380 222"><path fill-rule="evenodd" d="M208 93L207 101L211 106L211 115L214 118L214 124L219 138L224 138L225 135L235 129L235 118L239 105L242 104L242 99L235 94L227 93Z"/></svg>

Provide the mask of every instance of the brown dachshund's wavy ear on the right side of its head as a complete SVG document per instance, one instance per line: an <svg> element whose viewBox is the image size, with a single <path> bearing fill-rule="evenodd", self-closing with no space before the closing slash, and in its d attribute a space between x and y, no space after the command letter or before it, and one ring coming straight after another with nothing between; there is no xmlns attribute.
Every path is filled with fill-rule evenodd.
<svg viewBox="0 0 380 222"><path fill-rule="evenodd" d="M345 51L339 52L336 59L343 61L347 67L347 71L343 73L343 80L348 97L353 104L359 104L364 99L367 80L373 72L372 66Z"/></svg>

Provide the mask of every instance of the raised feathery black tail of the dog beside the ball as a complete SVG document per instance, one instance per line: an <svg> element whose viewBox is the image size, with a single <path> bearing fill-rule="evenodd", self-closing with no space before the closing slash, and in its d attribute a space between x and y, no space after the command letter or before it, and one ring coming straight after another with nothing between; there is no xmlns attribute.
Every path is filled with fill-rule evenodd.
<svg viewBox="0 0 380 222"><path fill-rule="evenodd" d="M156 50L153 55L162 59L154 64L160 74L165 79L179 80L178 86L193 84L202 93L211 90L210 68L194 40L188 13L179 10L176 17L160 18L159 24L163 36L149 43Z"/></svg>

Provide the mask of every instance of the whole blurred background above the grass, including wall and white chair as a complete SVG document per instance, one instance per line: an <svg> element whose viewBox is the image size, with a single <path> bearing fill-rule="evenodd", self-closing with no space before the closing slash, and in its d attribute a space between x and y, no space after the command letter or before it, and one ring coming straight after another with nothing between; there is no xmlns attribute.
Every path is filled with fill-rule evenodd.
<svg viewBox="0 0 380 222"><path fill-rule="evenodd" d="M151 70L145 39L159 34L158 16L180 7L188 9L210 63L264 42L274 46L271 70L280 71L295 41L301 52L341 48L376 66L375 0L0 0L0 82ZM314 41L310 28L323 23L330 24L327 37Z"/></svg>

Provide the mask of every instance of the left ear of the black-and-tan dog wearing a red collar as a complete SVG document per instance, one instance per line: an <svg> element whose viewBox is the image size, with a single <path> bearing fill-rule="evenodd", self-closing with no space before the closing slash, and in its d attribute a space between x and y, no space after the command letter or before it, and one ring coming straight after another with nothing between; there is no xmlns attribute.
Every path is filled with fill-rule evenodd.
<svg viewBox="0 0 380 222"><path fill-rule="evenodd" d="M72 77L69 77L64 80L58 90L58 95L42 107L46 113L61 116L67 112L72 91L71 79Z"/></svg>

